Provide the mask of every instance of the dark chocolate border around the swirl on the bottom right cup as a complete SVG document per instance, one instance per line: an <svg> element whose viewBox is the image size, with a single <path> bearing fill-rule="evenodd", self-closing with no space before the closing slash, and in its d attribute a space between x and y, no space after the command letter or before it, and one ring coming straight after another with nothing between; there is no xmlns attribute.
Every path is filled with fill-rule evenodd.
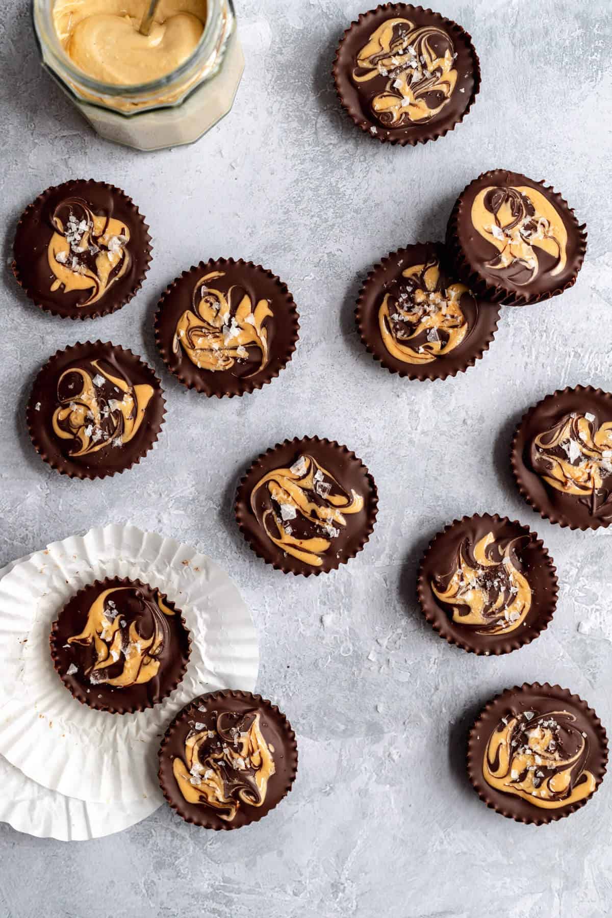
<svg viewBox="0 0 612 918"><path fill-rule="evenodd" d="M506 689L501 695L495 696L493 700L484 706L470 733L467 770L473 788L490 809L501 813L502 816L506 816L508 819L514 819L517 823L526 823L528 825L556 823L565 816L580 810L593 797L593 794L591 794L584 800L578 800L567 806L559 807L555 810L544 810L514 794L506 794L501 790L492 788L484 780L484 750L491 733L501 722L502 717L509 712L518 713L520 711L529 711L532 708L537 709L539 704L542 706L540 707L540 712L554 711L555 705L559 702L562 703L564 708L578 716L581 729L588 735L591 752L587 759L586 767L595 776L596 783L593 791L593 794L595 794L606 774L606 730L595 711L589 708L586 702L579 698L578 695L572 695L568 689L562 689L558 685L551 686L549 682L544 682L541 685L539 682L534 682L530 685L525 682L520 687L515 686L514 689Z"/></svg>

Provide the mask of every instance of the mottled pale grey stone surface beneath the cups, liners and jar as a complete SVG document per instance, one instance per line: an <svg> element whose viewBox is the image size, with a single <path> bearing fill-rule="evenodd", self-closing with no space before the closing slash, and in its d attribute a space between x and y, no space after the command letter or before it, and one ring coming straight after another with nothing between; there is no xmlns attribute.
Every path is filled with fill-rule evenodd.
<svg viewBox="0 0 612 918"><path fill-rule="evenodd" d="M0 22L5 262L22 208L74 176L124 187L155 247L136 300L95 323L40 312L4 273L0 564L109 521L194 543L250 604L261 632L259 689L287 712L300 746L293 793L239 833L207 834L165 806L86 844L0 826L3 916L594 918L612 909L612 780L571 819L536 828L488 811L463 759L473 716L523 680L560 682L612 726L612 530L540 521L507 462L514 425L540 397L577 383L612 386L612 5L444 0L441 12L473 35L483 88L464 124L414 150L362 136L336 102L334 49L366 6L240 0L247 70L233 111L195 146L149 155L98 140L39 71L25 0L9 0ZM388 374L353 327L364 272L397 246L441 238L453 198L497 166L546 178L588 223L578 283L549 304L506 310L490 352L454 380ZM219 255L280 274L302 321L279 379L220 402L164 372L151 330L164 286ZM92 336L157 368L168 417L135 470L70 481L34 453L24 406L50 353ZM250 553L231 503L257 453L311 432L362 457L381 504L365 551L305 580ZM485 510L535 528L561 578L549 630L502 659L449 647L414 596L431 536Z"/></svg>

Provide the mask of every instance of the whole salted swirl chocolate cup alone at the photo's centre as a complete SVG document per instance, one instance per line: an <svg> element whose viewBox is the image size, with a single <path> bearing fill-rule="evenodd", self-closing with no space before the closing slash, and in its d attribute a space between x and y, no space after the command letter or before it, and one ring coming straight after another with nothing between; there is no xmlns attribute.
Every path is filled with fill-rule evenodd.
<svg viewBox="0 0 612 918"><path fill-rule="evenodd" d="M250 547L284 574L326 574L362 551L378 491L355 453L335 441L295 437L250 465L236 520Z"/></svg>

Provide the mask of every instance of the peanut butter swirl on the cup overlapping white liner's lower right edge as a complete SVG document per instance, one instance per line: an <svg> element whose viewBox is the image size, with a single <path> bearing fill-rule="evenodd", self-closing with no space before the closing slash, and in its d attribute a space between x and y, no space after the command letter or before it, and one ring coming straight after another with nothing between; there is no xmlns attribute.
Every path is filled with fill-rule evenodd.
<svg viewBox="0 0 612 918"><path fill-rule="evenodd" d="M216 728L195 722L172 772L188 803L212 807L232 822L244 804L261 807L275 773L274 747L261 732L260 711L214 712Z"/></svg>

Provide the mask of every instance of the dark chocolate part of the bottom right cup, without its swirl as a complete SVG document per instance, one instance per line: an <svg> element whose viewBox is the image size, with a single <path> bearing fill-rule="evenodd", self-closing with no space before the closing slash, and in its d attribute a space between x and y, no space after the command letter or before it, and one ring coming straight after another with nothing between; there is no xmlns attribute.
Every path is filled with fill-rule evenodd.
<svg viewBox="0 0 612 918"><path fill-rule="evenodd" d="M524 723L533 722L535 726L538 724L538 715L543 714L546 720L547 714L550 717L553 712L559 713L560 711L566 711L571 715L570 719L563 718L563 721L569 722L570 729L574 733L574 742L578 733L582 734L585 741L585 755L581 756L578 761L580 771L576 781L570 785L571 793L576 784L582 783L583 780L592 781L593 790L581 799L569 800L566 804L545 809L541 805L538 806L536 803L529 802L528 799L517 796L517 793L507 792L490 785L484 777L484 756L487 754L487 746L495 731L503 730L517 715ZM529 717L529 715L532 716ZM572 721L572 718L575 720ZM468 740L467 770L473 788L480 799L492 810L501 813L508 819L514 819L517 823L544 825L569 816L591 800L606 774L607 755L606 730L595 711L589 708L584 700L558 685L551 686L548 682L541 685L539 682L534 682L529 685L526 682L520 687L506 689L485 705L473 725ZM511 760L508 761L508 767L510 766ZM542 783L551 777L546 775L547 770L545 767L541 768ZM585 775L585 772L588 772L588 775ZM506 775L506 777L509 778L506 786L516 785L517 781L521 780L519 774L514 777ZM576 795L578 796L579 794ZM528 797L532 795L529 793ZM542 800L541 792L538 797L532 797L534 800L539 798ZM562 800L559 802L562 803Z"/></svg>

